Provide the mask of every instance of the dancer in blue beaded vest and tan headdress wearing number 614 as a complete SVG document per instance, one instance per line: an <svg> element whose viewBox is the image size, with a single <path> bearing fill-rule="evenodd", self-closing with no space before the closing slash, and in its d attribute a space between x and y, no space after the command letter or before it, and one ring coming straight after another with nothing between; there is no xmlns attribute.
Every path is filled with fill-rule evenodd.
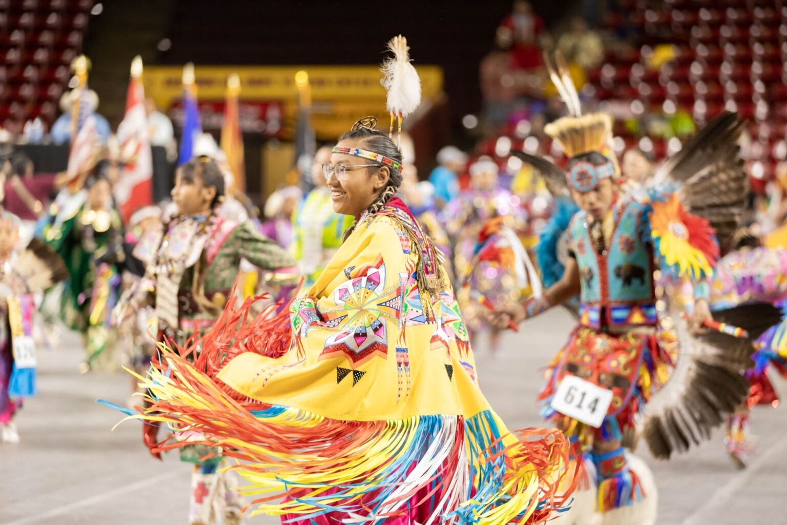
<svg viewBox="0 0 787 525"><path fill-rule="evenodd" d="M664 334L656 308L657 271L674 272L695 283L693 329L700 331L712 321L706 278L719 258L719 245L708 220L686 211L677 190L682 190L692 211L702 213L702 194L691 185L697 182L690 177L691 168L703 166L696 162L698 154L710 164L719 150L719 156L730 157L719 162L726 171L700 182L717 183L719 188L727 182L723 190L730 194L722 198L742 201L745 175L734 146L740 123L726 115L717 124L687 144L684 157L667 162L665 173L670 178L665 175L663 186L652 188L648 201L619 191L615 162L602 153L608 151L611 138L611 117L606 114L575 113L545 128L570 157L567 172L516 152L552 186L562 185L556 196L570 194L579 210L567 225L568 257L562 277L541 297L501 307L491 319L499 327L511 321L518 324L579 294L578 327L552 360L539 399L545 405L544 415L571 439L577 456L585 450L586 460L592 459L596 509L605 524L647 525L656 519L656 487L645 487L651 484L651 475L644 463L626 453L623 441L634 431L635 416L645 410L674 366L664 346L672 335ZM711 133L720 137L714 137L718 140L712 144ZM706 142L708 150L698 152L696 145ZM708 199L715 196L704 194ZM737 399L733 396L724 409L733 409ZM569 523L593 522L590 516L575 516Z"/></svg>

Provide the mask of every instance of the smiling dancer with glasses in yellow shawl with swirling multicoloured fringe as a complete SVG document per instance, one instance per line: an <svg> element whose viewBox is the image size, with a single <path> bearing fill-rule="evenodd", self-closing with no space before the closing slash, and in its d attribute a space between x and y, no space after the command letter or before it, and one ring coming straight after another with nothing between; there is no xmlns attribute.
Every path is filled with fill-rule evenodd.
<svg viewBox="0 0 787 525"><path fill-rule="evenodd" d="M390 45L412 68L405 40ZM226 309L193 364L164 353L134 417L245 460L231 470L255 512L283 523L542 523L570 497L556 489L567 444L508 431L483 397L434 243L394 196L401 153L374 124L360 120L323 166L334 210L355 222L291 319L238 327L251 301Z"/></svg>

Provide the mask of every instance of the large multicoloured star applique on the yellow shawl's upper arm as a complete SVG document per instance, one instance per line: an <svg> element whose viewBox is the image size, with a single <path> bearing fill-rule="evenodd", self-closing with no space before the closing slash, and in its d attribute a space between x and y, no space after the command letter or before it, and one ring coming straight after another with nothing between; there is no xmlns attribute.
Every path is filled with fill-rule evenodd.
<svg viewBox="0 0 787 525"><path fill-rule="evenodd" d="M382 257L375 264L359 268L352 279L334 290L336 309L320 313L327 322L335 323L337 334L325 342L320 359L345 356L355 369L375 355L388 355L386 324L396 323L401 316L404 287L400 283L385 290L386 265Z"/></svg>

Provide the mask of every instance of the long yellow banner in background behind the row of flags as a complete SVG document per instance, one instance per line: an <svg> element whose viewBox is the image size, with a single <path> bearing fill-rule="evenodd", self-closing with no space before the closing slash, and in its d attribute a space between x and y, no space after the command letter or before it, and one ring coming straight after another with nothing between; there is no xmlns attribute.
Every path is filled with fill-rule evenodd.
<svg viewBox="0 0 787 525"><path fill-rule="evenodd" d="M423 98L442 94L442 69L435 65L418 66ZM237 73L241 82L241 101L279 101L284 106L283 138L294 133L297 112L295 73L309 73L312 98L312 124L319 139L336 139L362 116L375 115L379 128L388 126L386 91L380 84L376 66L197 66L194 68L199 100L222 101L227 76ZM167 112L172 102L183 97L179 66L145 68L145 94Z"/></svg>

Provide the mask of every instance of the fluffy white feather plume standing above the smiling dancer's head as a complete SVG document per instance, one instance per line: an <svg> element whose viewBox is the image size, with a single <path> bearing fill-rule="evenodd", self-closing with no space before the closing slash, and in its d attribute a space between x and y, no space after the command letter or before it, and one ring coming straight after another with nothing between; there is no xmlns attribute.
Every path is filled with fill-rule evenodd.
<svg viewBox="0 0 787 525"><path fill-rule="evenodd" d="M382 62L382 86L388 91L388 111L408 116L421 103L421 79L410 63L407 39L398 35L390 39L388 50L393 57Z"/></svg>

